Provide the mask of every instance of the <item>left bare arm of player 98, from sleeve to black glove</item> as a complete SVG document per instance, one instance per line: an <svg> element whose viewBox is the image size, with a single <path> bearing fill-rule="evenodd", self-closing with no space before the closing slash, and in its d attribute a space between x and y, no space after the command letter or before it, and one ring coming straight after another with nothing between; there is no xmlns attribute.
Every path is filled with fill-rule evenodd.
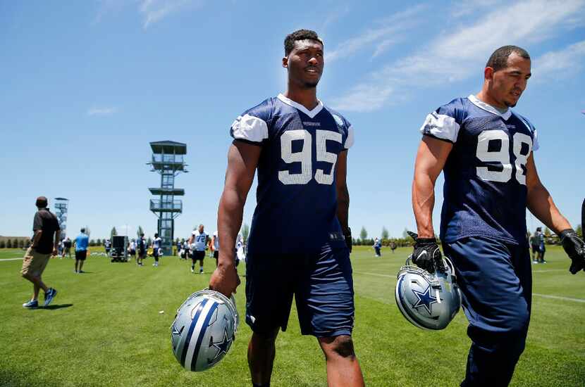
<svg viewBox="0 0 585 387"><path fill-rule="evenodd" d="M414 163L412 182L412 210L417 220L419 238L434 238L433 207L435 183L441 174L453 144L424 136Z"/></svg>

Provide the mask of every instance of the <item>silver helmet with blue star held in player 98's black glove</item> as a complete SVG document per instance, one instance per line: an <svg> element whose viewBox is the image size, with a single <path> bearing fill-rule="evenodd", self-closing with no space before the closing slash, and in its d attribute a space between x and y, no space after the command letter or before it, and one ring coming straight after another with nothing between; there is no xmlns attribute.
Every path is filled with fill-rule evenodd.
<svg viewBox="0 0 585 387"><path fill-rule="evenodd" d="M461 306L455 268L443 257L445 272L433 274L410 264L411 257L398 272L395 298L398 309L421 329L445 329Z"/></svg>

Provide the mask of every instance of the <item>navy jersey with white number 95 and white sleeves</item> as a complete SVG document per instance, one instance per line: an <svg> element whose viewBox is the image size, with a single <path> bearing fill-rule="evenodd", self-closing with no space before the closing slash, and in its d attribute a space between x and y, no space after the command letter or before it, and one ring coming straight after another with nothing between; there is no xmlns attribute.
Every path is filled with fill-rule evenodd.
<svg viewBox="0 0 585 387"><path fill-rule="evenodd" d="M312 253L345 246L335 165L353 129L321 101L308 110L282 94L242 113L231 136L261 146L248 253Z"/></svg>

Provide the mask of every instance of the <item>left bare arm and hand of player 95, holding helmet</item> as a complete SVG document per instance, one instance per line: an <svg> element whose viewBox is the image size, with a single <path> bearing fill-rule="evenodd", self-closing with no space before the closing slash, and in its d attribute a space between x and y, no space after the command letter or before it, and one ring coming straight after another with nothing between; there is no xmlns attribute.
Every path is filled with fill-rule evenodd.
<svg viewBox="0 0 585 387"><path fill-rule="evenodd" d="M226 183L217 214L218 237L222 248L219 251L217 269L209 280L209 288L228 297L240 284L235 271L235 239L242 227L244 204L254 181L260 152L261 147L242 141L233 141L228 151Z"/></svg>

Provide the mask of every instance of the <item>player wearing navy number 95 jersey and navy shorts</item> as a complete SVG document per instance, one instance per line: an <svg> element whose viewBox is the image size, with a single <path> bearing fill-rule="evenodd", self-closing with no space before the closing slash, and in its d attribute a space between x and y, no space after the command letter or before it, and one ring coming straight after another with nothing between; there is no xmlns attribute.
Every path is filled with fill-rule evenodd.
<svg viewBox="0 0 585 387"><path fill-rule="evenodd" d="M345 175L353 129L316 97L323 49L313 31L289 34L282 61L287 91L245 111L230 129L234 141L218 210L221 250L209 287L230 296L239 284L235 239L257 171L246 258L254 386L270 384L274 342L286 329L293 295L302 334L315 336L324 352L329 386L364 385L351 338L354 291Z"/></svg>

